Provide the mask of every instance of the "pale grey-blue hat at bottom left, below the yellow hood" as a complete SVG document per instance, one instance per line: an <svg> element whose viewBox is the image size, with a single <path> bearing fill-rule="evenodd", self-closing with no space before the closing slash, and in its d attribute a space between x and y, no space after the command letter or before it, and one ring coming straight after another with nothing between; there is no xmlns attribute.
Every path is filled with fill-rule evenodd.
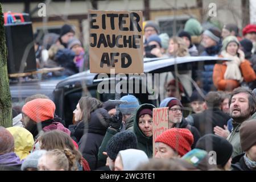
<svg viewBox="0 0 256 182"><path fill-rule="evenodd" d="M46 154L46 150L36 150L32 152L30 155L27 156L27 158L22 163L21 169L22 171L25 171L26 168L37 168L38 167L38 160L43 154Z"/></svg>

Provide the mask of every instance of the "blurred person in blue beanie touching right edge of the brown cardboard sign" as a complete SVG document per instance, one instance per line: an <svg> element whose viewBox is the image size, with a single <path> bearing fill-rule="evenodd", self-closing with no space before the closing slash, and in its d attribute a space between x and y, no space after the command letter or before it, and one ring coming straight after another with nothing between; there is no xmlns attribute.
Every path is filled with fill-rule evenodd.
<svg viewBox="0 0 256 182"><path fill-rule="evenodd" d="M163 57L164 49L162 48L161 39L158 35L150 35L147 44L144 46L144 57Z"/></svg>

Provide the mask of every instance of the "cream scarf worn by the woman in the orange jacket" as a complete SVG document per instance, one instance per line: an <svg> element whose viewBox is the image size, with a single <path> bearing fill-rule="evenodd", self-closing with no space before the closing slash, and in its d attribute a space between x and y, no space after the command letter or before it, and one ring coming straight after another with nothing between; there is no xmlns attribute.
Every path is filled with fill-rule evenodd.
<svg viewBox="0 0 256 182"><path fill-rule="evenodd" d="M237 80L239 82L243 81L242 73L240 71L241 61L239 57L232 56L226 51L222 51L221 55L230 58L232 61L226 61L226 71L224 74L225 80Z"/></svg>

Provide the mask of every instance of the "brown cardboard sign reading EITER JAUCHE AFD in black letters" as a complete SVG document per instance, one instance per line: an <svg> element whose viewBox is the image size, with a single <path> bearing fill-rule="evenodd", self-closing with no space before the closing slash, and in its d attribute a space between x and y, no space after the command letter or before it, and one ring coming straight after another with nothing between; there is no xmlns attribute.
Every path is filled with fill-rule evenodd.
<svg viewBox="0 0 256 182"><path fill-rule="evenodd" d="M89 10L90 72L143 73L142 11Z"/></svg>

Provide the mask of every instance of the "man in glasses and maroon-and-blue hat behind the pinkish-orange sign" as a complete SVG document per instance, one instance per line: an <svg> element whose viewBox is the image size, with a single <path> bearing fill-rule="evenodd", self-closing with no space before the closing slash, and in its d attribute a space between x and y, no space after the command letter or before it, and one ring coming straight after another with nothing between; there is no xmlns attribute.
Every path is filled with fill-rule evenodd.
<svg viewBox="0 0 256 182"><path fill-rule="evenodd" d="M200 138L199 131L189 125L188 121L183 117L183 105L175 97L167 97L164 99L159 107L169 107L168 118L169 118L169 128L180 128L188 129L193 134L194 142L192 148L195 148L197 140Z"/></svg>

